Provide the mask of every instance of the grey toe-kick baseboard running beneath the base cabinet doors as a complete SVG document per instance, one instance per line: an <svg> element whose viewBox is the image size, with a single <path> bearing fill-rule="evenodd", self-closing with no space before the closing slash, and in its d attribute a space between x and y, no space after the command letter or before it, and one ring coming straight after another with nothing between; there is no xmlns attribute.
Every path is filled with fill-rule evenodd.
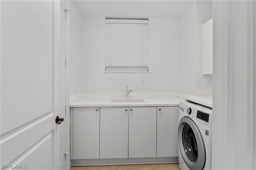
<svg viewBox="0 0 256 170"><path fill-rule="evenodd" d="M72 166L128 165L128 164L171 164L178 163L178 157L161 158L110 158L110 159L74 159Z"/></svg>

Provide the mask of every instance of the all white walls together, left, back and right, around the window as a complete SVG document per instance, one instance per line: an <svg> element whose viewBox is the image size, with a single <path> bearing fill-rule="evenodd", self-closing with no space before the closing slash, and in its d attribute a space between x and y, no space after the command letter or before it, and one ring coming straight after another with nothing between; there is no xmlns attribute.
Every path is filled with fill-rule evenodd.
<svg viewBox="0 0 256 170"><path fill-rule="evenodd" d="M202 74L202 24L212 17L211 1L193 2L176 19L149 19L150 73L103 73L105 18L81 18L73 3L72 8L70 96L79 92L124 92L126 86L133 87L134 92L191 95L198 89L212 89L212 75Z"/></svg>

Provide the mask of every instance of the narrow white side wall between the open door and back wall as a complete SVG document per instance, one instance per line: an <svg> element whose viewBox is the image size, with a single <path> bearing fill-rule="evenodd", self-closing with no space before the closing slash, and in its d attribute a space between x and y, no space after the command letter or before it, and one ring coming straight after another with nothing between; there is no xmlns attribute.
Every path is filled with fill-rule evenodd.
<svg viewBox="0 0 256 170"><path fill-rule="evenodd" d="M81 93L82 18L70 1L70 96Z"/></svg>

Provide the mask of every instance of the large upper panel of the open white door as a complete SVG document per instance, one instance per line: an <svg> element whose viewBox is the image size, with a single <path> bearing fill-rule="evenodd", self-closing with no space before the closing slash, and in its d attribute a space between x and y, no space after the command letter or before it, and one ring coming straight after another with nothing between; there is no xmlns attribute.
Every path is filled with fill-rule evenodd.
<svg viewBox="0 0 256 170"><path fill-rule="evenodd" d="M52 8L1 2L1 135L52 111Z"/></svg>

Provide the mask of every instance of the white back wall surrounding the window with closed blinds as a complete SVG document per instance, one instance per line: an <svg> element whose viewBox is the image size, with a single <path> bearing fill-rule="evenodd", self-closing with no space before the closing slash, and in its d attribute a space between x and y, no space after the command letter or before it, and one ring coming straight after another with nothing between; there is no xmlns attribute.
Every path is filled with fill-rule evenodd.
<svg viewBox="0 0 256 170"><path fill-rule="evenodd" d="M83 17L82 92L178 91L178 20L149 19L150 73L103 73L105 18Z"/></svg>

